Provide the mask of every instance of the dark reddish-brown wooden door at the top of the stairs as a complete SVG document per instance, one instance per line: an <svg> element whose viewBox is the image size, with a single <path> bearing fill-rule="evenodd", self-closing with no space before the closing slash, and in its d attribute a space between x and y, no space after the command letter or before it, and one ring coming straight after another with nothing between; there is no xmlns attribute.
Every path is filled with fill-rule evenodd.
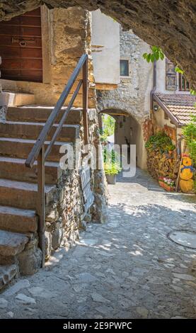
<svg viewBox="0 0 196 333"><path fill-rule="evenodd" d="M1 79L42 82L40 8L0 22Z"/></svg>

